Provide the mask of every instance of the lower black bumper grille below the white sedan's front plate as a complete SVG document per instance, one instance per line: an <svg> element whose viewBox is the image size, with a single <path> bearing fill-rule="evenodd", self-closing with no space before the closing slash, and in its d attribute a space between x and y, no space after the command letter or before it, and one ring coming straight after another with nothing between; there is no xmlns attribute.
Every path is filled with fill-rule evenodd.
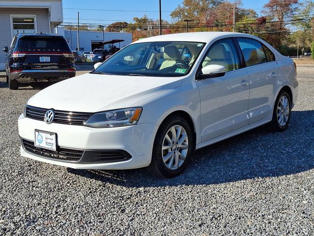
<svg viewBox="0 0 314 236"><path fill-rule="evenodd" d="M23 147L26 151L49 157L52 159L65 160L65 161L79 161L83 155L83 149L70 149L70 148L61 148L58 147L57 151L52 151L44 148L37 148L34 145L33 141L28 141L26 139L22 139Z"/></svg>

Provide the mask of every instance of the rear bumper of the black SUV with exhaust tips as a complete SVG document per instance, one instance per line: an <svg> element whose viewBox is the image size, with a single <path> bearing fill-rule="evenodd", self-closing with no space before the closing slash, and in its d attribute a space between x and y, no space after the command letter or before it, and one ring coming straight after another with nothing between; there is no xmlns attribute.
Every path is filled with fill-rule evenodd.
<svg viewBox="0 0 314 236"><path fill-rule="evenodd" d="M21 83L64 80L76 75L76 71L68 70L22 70L10 73L11 80L17 80Z"/></svg>

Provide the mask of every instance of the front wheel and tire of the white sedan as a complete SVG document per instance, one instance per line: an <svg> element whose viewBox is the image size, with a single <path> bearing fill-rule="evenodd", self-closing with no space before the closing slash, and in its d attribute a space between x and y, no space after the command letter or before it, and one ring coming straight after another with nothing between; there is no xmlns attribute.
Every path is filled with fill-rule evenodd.
<svg viewBox="0 0 314 236"><path fill-rule="evenodd" d="M149 170L159 177L180 175L189 162L192 147L192 130L186 120L180 116L167 118L157 131Z"/></svg>

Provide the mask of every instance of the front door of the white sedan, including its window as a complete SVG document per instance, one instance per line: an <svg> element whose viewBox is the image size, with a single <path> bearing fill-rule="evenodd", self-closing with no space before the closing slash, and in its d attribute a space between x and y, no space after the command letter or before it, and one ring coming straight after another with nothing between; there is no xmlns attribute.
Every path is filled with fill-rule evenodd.
<svg viewBox="0 0 314 236"><path fill-rule="evenodd" d="M210 46L200 67L226 67L224 76L196 81L201 101L202 142L248 125L249 78L232 38Z"/></svg>

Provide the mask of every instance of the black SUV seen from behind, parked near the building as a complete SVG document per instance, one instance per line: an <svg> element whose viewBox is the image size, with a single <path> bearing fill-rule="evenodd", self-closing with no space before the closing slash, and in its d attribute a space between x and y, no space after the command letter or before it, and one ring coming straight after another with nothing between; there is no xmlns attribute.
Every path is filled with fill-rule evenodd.
<svg viewBox="0 0 314 236"><path fill-rule="evenodd" d="M19 33L3 51L9 89L18 89L19 83L60 81L76 73L73 53L60 35Z"/></svg>

